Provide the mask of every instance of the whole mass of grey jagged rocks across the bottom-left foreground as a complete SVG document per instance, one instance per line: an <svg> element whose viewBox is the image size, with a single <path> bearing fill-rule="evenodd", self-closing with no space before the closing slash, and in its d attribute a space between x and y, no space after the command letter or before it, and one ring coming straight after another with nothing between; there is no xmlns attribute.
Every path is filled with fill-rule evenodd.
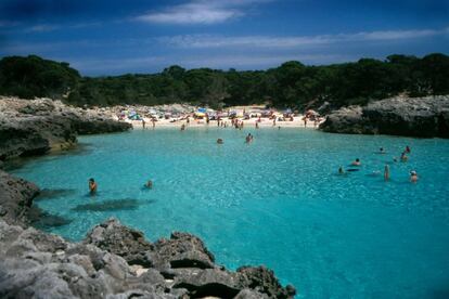
<svg viewBox="0 0 449 299"><path fill-rule="evenodd" d="M69 243L0 220L2 298L293 298L295 292L264 266L230 272L216 265L190 234L151 244L112 219L82 243Z"/></svg>

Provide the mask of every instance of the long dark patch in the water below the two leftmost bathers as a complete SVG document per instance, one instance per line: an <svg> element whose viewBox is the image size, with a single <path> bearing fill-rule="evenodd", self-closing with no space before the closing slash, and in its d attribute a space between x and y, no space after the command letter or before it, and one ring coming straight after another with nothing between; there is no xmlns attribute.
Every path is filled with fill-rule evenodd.
<svg viewBox="0 0 449 299"><path fill-rule="evenodd" d="M92 199L95 200L95 199ZM73 211L117 211L117 210L134 210L139 206L153 204L156 200L149 199L145 202L137 200L132 198L104 200L98 203L89 203L85 205L78 205L73 208Z"/></svg>

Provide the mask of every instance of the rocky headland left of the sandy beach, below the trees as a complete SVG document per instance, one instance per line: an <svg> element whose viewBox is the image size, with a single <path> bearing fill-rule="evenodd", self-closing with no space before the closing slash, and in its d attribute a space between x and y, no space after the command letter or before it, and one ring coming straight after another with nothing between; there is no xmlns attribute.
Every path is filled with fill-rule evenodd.
<svg viewBox="0 0 449 299"><path fill-rule="evenodd" d="M60 101L0 98L0 160L67 148L76 143L77 134L130 128L107 114L66 106Z"/></svg>

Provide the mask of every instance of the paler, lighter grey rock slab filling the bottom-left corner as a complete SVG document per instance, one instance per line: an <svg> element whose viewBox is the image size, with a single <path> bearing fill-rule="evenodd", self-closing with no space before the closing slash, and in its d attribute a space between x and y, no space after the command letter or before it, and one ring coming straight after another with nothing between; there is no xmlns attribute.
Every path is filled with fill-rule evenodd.
<svg viewBox="0 0 449 299"><path fill-rule="evenodd" d="M31 227L0 220L0 248L1 298L176 298L155 270L138 277L116 255Z"/></svg>

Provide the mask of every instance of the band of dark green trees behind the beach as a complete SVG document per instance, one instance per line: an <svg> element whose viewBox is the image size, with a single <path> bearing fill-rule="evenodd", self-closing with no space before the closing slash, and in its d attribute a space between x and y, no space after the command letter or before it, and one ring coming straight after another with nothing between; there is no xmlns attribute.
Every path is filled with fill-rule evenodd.
<svg viewBox="0 0 449 299"><path fill-rule="evenodd" d="M449 94L449 56L390 55L385 61L306 66L286 62L257 72L170 66L161 74L80 77L67 63L38 56L0 61L0 94L62 98L74 105L192 103L220 107L270 103L277 107L331 107L408 93Z"/></svg>

